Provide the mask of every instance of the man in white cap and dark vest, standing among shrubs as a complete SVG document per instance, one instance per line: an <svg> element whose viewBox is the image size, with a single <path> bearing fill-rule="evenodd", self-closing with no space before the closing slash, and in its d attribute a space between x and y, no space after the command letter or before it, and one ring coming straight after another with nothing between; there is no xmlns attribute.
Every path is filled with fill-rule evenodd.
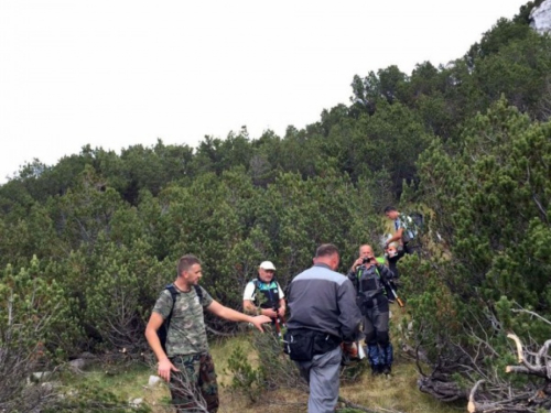
<svg viewBox="0 0 551 413"><path fill-rule="evenodd" d="M285 315L285 300L279 283L273 279L276 267L263 261L258 268L258 278L245 287L242 306L246 313L267 315L276 319Z"/></svg>

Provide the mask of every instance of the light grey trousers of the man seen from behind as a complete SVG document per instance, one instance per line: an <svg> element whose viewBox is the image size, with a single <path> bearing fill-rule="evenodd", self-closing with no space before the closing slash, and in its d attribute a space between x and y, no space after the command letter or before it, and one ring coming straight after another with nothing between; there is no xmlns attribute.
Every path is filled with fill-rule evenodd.
<svg viewBox="0 0 551 413"><path fill-rule="evenodd" d="M295 361L301 376L310 384L309 413L333 413L338 401L341 346L312 361Z"/></svg>

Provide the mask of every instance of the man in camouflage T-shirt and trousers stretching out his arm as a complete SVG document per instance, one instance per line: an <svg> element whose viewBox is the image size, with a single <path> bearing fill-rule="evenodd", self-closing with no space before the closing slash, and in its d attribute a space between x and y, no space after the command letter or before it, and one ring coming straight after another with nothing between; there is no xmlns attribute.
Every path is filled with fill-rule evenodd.
<svg viewBox="0 0 551 413"><path fill-rule="evenodd" d="M218 410L218 387L208 352L203 308L225 319L252 323L261 332L262 324L270 322L263 315L251 317L223 306L198 286L201 276L201 261L192 254L182 257L173 283L177 293L175 301L169 290L163 290L145 327L145 338L159 360L159 376L170 383L172 402L179 413ZM201 289L202 297L195 286ZM171 311L165 352L158 330Z"/></svg>

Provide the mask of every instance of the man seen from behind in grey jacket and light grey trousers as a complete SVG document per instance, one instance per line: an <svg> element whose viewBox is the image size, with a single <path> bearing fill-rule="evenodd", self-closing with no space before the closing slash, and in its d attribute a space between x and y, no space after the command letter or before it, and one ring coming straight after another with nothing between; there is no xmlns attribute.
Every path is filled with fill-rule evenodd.
<svg viewBox="0 0 551 413"><path fill-rule="evenodd" d="M334 244L317 248L314 265L289 286L285 341L292 360L310 384L309 413L332 413L338 399L341 343L354 341L361 322L350 281L335 272Z"/></svg>

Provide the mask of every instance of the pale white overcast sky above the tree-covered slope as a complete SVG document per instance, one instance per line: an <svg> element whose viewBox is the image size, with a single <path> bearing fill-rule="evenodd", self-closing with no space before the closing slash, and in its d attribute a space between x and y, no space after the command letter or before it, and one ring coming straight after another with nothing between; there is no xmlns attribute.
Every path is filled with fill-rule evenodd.
<svg viewBox="0 0 551 413"><path fill-rule="evenodd" d="M0 184L89 144L283 135L354 75L463 56L519 0L0 0Z"/></svg>

